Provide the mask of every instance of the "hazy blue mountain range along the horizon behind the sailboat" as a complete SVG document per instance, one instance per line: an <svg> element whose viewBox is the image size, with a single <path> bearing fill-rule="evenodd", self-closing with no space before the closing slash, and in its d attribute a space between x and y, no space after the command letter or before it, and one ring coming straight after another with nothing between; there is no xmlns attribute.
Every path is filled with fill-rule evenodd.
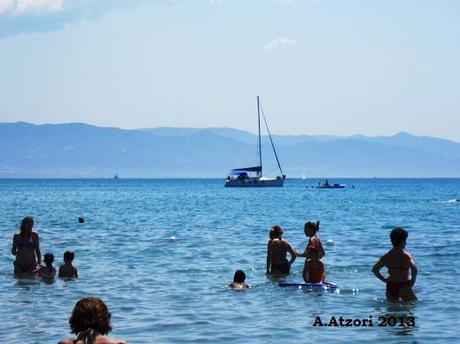
<svg viewBox="0 0 460 344"><path fill-rule="evenodd" d="M460 177L454 141L408 133L273 138L288 178ZM230 128L0 123L0 178L224 178L257 163L256 143L256 135ZM263 153L267 175L276 174L271 148Z"/></svg>

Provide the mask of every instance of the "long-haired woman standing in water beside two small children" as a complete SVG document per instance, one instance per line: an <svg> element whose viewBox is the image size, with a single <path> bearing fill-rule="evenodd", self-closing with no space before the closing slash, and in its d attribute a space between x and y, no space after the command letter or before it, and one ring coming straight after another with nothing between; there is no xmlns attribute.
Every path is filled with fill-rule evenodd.
<svg viewBox="0 0 460 344"><path fill-rule="evenodd" d="M32 274L37 264L40 265L42 257L40 240L37 232L33 231L34 219L26 216L22 219L19 233L13 236L11 253L16 256L14 260L15 274Z"/></svg>

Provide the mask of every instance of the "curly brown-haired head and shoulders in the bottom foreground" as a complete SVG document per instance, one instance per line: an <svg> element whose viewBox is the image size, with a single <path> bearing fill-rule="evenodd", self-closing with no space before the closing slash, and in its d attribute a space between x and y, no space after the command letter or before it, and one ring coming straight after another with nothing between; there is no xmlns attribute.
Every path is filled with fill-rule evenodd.
<svg viewBox="0 0 460 344"><path fill-rule="evenodd" d="M61 340L58 344L126 344L124 340L107 337L112 326L106 304L97 297L84 297L74 306L69 319L75 339Z"/></svg>

